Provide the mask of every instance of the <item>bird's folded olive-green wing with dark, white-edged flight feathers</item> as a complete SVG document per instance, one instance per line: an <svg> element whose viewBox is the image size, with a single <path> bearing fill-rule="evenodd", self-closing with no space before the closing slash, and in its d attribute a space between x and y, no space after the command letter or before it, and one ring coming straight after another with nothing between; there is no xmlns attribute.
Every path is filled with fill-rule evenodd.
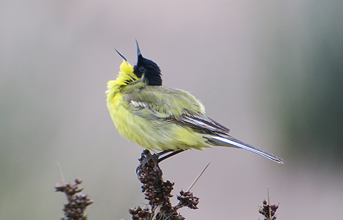
<svg viewBox="0 0 343 220"><path fill-rule="evenodd" d="M167 87L146 87L124 95L128 108L141 117L172 121L201 132L229 134L230 130L205 115L205 108L188 92Z"/></svg>

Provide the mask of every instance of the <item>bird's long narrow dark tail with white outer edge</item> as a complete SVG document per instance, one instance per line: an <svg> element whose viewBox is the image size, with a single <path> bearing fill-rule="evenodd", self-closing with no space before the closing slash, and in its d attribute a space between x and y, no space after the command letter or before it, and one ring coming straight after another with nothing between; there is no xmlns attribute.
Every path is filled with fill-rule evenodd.
<svg viewBox="0 0 343 220"><path fill-rule="evenodd" d="M225 137L223 136L214 136L211 135L210 137L206 137L208 139L208 141L211 144L217 145L217 146L224 146L224 147L237 147L237 148L243 148L245 150L251 151L255 154L260 154L261 156L265 156L271 160L274 160L277 163L284 163L284 160L274 156L272 154L269 154L261 149L255 148L254 146L251 146L249 144L246 144L240 140L237 140L236 138L230 136L230 135L225 135Z"/></svg>

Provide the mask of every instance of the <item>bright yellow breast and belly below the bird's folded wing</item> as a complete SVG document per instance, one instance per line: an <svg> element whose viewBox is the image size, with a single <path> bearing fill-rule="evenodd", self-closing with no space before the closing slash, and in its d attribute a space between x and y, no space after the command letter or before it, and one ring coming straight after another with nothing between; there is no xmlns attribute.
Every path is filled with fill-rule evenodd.
<svg viewBox="0 0 343 220"><path fill-rule="evenodd" d="M163 119L147 120L130 112L119 93L108 100L108 109L119 133L148 150L201 150L210 147L205 143L206 139L191 128Z"/></svg>

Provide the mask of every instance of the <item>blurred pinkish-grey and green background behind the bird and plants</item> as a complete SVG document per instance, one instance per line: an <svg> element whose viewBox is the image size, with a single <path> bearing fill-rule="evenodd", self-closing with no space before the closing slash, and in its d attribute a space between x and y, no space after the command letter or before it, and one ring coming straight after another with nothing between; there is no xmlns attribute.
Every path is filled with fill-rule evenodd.
<svg viewBox="0 0 343 220"><path fill-rule="evenodd" d="M187 220L343 217L343 1L0 1L0 220L57 220L61 182L83 179L90 220L145 206L142 148L116 131L105 103L121 51L190 91L234 137L272 154L188 151L161 163L173 195L193 188ZM176 196L172 198L176 204Z"/></svg>

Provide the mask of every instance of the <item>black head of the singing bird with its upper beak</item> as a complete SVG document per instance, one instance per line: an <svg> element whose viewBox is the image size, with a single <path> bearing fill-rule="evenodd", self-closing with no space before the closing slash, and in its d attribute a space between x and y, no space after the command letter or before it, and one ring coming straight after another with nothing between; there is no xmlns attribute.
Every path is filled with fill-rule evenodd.
<svg viewBox="0 0 343 220"><path fill-rule="evenodd" d="M137 43L137 40L136 40ZM144 58L139 50L137 43L137 64L133 68L133 73L136 74L138 78L144 77L149 86L162 86L161 69L151 60Z"/></svg>

